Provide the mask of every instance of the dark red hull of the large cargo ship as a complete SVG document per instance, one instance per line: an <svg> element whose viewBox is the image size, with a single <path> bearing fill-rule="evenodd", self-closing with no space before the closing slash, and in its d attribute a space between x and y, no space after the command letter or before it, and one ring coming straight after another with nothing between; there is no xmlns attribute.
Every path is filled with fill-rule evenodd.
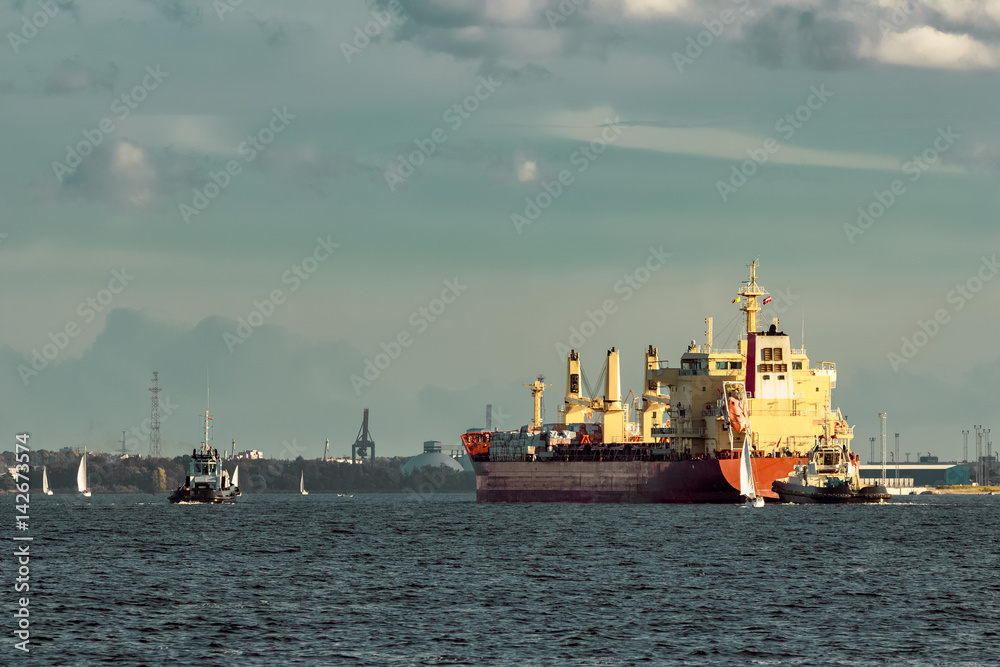
<svg viewBox="0 0 1000 667"><path fill-rule="evenodd" d="M757 492L801 457L753 459ZM474 461L479 502L738 503L739 459L689 461Z"/></svg>

